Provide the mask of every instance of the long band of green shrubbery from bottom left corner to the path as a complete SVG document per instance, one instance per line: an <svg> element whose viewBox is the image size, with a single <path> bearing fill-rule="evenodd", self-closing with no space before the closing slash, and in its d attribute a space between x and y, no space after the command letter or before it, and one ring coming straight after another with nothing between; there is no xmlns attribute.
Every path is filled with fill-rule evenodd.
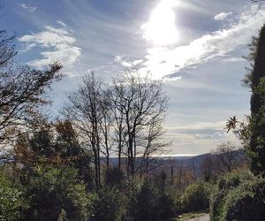
<svg viewBox="0 0 265 221"><path fill-rule="evenodd" d="M181 194L173 185L135 176L90 191L69 166L25 170L18 169L12 181L0 172L0 220L155 221L208 209L209 187L202 182Z"/></svg>

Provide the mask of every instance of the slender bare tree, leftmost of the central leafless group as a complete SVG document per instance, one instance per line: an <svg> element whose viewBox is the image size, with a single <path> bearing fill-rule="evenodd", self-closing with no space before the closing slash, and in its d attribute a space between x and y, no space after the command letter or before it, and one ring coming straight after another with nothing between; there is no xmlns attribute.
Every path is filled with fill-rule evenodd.
<svg viewBox="0 0 265 221"><path fill-rule="evenodd" d="M101 186L102 81L92 72L83 79L77 92L68 95L63 112L79 129L79 135L91 149L95 165L95 185Z"/></svg>

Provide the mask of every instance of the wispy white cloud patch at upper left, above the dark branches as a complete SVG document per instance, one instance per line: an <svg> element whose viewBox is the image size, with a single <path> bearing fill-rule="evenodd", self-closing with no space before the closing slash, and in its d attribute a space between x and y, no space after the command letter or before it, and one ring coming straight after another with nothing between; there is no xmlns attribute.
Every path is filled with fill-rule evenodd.
<svg viewBox="0 0 265 221"><path fill-rule="evenodd" d="M64 28L45 27L39 33L27 34L19 38L19 42L27 44L27 50L39 47L42 50L40 59L28 62L29 65L42 67L54 61L66 66L73 65L81 54L81 49L74 45L76 39Z"/></svg>

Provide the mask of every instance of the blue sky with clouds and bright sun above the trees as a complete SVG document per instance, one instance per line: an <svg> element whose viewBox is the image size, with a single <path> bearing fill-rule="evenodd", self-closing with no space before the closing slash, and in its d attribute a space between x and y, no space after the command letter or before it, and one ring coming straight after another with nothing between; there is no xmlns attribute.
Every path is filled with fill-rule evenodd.
<svg viewBox="0 0 265 221"><path fill-rule="evenodd" d="M169 96L169 154L203 154L223 141L230 116L249 113L240 80L265 5L245 0L0 0L0 26L16 34L17 59L36 68L54 61L65 77L54 85L51 112L95 71L110 82L138 66L163 80Z"/></svg>

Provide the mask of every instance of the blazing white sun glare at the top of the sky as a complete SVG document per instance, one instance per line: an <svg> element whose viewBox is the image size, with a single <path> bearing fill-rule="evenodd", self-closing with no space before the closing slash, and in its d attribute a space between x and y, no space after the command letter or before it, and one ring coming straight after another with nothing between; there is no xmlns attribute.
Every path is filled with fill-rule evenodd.
<svg viewBox="0 0 265 221"><path fill-rule="evenodd" d="M150 19L140 28L144 30L143 38L156 46L170 45L178 42L178 30L175 25L173 8L178 0L163 0L151 12Z"/></svg>

